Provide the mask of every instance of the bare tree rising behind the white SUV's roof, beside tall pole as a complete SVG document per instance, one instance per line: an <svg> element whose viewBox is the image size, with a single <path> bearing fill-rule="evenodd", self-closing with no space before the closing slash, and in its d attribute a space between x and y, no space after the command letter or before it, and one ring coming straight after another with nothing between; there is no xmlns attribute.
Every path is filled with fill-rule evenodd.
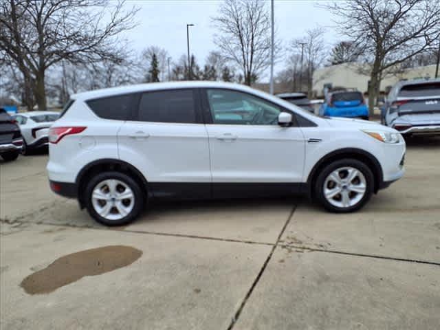
<svg viewBox="0 0 440 330"><path fill-rule="evenodd" d="M243 72L245 84L251 85L270 65L271 24L266 3L225 0L219 15L212 21L219 30L219 34L214 35L214 43L221 55L237 65Z"/></svg>

